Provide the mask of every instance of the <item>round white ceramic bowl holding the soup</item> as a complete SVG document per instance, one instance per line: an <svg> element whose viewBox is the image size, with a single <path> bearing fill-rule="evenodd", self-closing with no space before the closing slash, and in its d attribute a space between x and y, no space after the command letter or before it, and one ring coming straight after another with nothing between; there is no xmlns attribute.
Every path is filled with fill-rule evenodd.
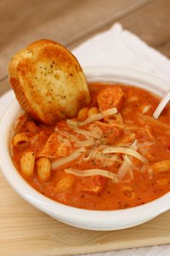
<svg viewBox="0 0 170 256"><path fill-rule="evenodd" d="M88 81L122 82L146 88L153 93L163 95L170 88L169 83L143 72L117 67L86 67ZM116 230L126 229L164 213L170 208L170 193L148 202L124 210L83 210L50 200L33 189L22 179L12 163L9 152L9 140L13 134L13 125L22 109L16 100L6 109L0 121L0 166L1 171L14 190L27 202L47 213L49 216L82 229Z"/></svg>

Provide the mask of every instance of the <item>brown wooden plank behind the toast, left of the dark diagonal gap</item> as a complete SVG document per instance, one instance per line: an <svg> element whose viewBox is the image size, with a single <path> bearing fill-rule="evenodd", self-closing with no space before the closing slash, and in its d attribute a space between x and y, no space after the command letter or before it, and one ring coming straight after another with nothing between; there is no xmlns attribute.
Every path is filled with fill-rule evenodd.
<svg viewBox="0 0 170 256"><path fill-rule="evenodd" d="M40 38L71 46L153 0L0 1L0 79L20 48Z"/></svg>

